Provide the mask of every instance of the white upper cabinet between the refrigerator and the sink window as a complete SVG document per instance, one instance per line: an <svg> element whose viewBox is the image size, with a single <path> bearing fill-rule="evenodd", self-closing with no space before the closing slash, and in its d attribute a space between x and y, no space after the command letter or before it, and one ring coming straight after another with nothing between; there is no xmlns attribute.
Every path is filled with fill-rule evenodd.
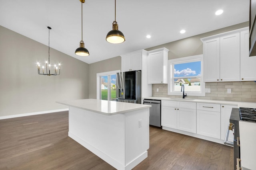
<svg viewBox="0 0 256 170"><path fill-rule="evenodd" d="M148 84L167 84L168 49L148 51Z"/></svg>

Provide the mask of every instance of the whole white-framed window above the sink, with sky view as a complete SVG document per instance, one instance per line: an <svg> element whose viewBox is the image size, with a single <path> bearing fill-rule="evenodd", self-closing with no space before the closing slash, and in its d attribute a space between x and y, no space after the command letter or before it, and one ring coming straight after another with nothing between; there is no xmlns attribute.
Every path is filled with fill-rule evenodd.
<svg viewBox="0 0 256 170"><path fill-rule="evenodd" d="M202 55L168 61L168 95L182 96L184 85L187 96L205 96Z"/></svg>

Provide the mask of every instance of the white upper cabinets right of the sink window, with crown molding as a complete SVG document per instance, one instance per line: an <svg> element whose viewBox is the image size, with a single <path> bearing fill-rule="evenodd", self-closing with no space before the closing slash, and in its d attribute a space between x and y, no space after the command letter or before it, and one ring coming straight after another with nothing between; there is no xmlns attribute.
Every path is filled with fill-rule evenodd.
<svg viewBox="0 0 256 170"><path fill-rule="evenodd" d="M249 57L248 27L201 39L204 53L204 82L256 80Z"/></svg>

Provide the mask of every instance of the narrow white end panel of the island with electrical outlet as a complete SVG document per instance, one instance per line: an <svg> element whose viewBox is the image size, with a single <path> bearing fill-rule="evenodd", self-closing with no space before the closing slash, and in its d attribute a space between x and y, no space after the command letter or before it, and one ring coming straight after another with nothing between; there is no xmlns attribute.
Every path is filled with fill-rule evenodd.
<svg viewBox="0 0 256 170"><path fill-rule="evenodd" d="M141 123L140 123L141 121ZM132 169L148 157L149 108L125 114L125 164Z"/></svg>

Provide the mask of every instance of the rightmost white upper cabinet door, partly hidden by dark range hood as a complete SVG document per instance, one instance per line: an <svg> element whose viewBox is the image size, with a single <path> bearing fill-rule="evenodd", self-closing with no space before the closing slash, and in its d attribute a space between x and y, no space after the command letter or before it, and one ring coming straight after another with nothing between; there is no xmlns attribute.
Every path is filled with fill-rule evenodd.
<svg viewBox="0 0 256 170"><path fill-rule="evenodd" d="M249 30L240 32L240 81L256 80L256 56L249 57Z"/></svg>

